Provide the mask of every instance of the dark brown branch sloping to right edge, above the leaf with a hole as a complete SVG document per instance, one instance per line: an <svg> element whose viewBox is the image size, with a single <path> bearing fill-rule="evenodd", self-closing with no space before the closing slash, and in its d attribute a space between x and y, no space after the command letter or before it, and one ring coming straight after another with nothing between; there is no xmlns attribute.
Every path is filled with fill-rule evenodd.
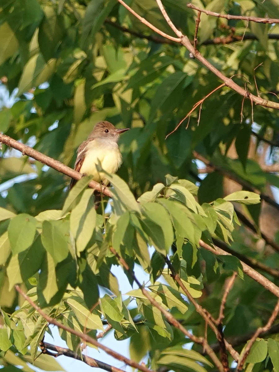
<svg viewBox="0 0 279 372"><path fill-rule="evenodd" d="M193 157L198 159L198 160L201 160L206 166L217 170L221 174L224 174L224 176L226 176L226 177L230 178L231 180L239 183L247 191L251 191L251 192L255 192L255 193L259 194L261 199L263 199L265 202L267 202L268 204L272 205L273 207L275 207L276 209L279 210L279 204L276 203L272 198L270 198L270 196L260 192L259 189L257 189L256 187L252 186L250 183L241 179L241 177L237 176L237 174L231 173L230 171L228 171L228 170L226 170L226 169L224 169L224 168L222 168L222 167L220 167L216 164L211 163L211 161L207 160L204 156L197 153L196 151L193 151Z"/></svg>

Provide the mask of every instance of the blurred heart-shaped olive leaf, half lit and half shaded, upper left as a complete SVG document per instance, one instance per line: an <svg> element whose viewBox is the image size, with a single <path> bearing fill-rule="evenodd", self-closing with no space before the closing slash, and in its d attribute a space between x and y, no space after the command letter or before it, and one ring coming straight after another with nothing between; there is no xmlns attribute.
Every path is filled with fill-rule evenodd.
<svg viewBox="0 0 279 372"><path fill-rule="evenodd" d="M38 87L53 74L56 60L51 58L47 63L41 53L33 55L23 68L19 80L18 95L27 92L32 87Z"/></svg>

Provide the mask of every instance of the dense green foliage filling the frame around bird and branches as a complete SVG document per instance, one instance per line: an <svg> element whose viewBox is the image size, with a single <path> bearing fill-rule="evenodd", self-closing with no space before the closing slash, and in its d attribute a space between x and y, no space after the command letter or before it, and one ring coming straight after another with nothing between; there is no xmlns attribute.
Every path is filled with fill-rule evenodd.
<svg viewBox="0 0 279 372"><path fill-rule="evenodd" d="M224 14L279 18L278 0L193 4ZM132 0L129 5L174 36L155 0ZM165 0L164 6L176 27L193 40L197 12L184 0ZM202 13L198 50L241 87L279 102L278 34L278 23ZM242 35L246 38L237 39ZM202 372L218 366L203 356L201 343L194 343L192 350L183 347L193 340L160 307L212 345L216 334L195 304L217 319L228 278L237 272L220 324L225 339L235 341L236 353L241 353L251 334L267 323L277 301L253 273L262 273L274 288L278 284L279 206L260 202L258 195L272 195L269 185L279 186L277 174L265 168L266 161L273 164L278 156L278 111L253 106L228 86L209 94L222 82L189 58L185 47L155 34L116 0L1 1L0 77L3 92L12 96L17 89L11 107L7 99L1 103L0 131L68 166L73 167L78 145L96 122L106 119L131 128L119 141L123 164L118 176L108 175L113 198L104 198L97 212L93 190L87 187L90 177L69 193L67 176L2 145L3 371L10 365L27 370L45 331L51 332L48 321L22 301L16 284L46 314L76 331L86 330L94 339L109 323L117 340L130 338L131 359L140 362L148 355L150 369ZM207 95L202 109L198 106L166 138ZM205 177L199 175L197 153L211 161ZM238 186L228 185L228 176ZM245 219L238 220L232 202L254 232ZM269 245L261 238L262 226ZM201 241L213 251L201 247ZM218 242L233 254L214 253ZM119 257L129 266L124 272L131 284L135 264L150 275L145 288L159 308L141 289L122 298L110 272L112 265L123 265ZM243 272L240 259L254 268L254 276ZM100 286L107 292L101 298ZM254 342L247 371L279 371L279 329L273 329ZM78 349L79 337L62 329L60 334L70 350ZM238 336L243 339L237 341ZM230 365L234 357L229 353ZM34 363L58 369L51 360L43 355Z"/></svg>

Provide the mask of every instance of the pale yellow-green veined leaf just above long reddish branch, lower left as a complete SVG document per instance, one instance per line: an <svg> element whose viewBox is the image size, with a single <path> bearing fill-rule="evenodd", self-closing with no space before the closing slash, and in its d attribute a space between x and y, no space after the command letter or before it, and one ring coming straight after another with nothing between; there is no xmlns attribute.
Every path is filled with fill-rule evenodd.
<svg viewBox="0 0 279 372"><path fill-rule="evenodd" d="M83 327L94 330L103 330L103 324L98 315L92 314L86 307L84 301L77 296L67 299L67 304L75 313L77 320Z"/></svg>

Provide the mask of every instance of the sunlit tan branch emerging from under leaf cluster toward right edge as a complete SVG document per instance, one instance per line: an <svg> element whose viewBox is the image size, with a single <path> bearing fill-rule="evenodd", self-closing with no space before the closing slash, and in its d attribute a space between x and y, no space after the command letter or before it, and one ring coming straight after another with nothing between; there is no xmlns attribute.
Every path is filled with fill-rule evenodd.
<svg viewBox="0 0 279 372"><path fill-rule="evenodd" d="M202 240L199 241L199 245L202 248L208 250L209 252L216 254L216 256L219 256L219 255L230 255L231 256L230 253L224 251L223 249L217 246L211 247L209 246L209 244L206 244ZM243 272L246 275L250 276L250 278L254 279L256 282L262 285L265 289L267 289L267 291L270 291L276 297L279 297L279 287L276 284L272 283L270 280L265 278L262 274L258 273L256 270L252 269L250 266L248 266L243 261L240 261L240 263L242 265Z"/></svg>

